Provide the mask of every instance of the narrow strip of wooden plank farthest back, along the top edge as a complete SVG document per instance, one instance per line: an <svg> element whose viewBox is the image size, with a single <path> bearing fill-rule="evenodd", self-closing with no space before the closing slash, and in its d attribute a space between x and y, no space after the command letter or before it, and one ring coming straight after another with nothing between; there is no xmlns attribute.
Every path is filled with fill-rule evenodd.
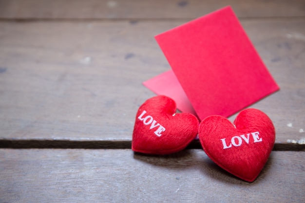
<svg viewBox="0 0 305 203"><path fill-rule="evenodd" d="M240 18L305 16L304 0L1 0L0 18L197 18L227 5Z"/></svg>

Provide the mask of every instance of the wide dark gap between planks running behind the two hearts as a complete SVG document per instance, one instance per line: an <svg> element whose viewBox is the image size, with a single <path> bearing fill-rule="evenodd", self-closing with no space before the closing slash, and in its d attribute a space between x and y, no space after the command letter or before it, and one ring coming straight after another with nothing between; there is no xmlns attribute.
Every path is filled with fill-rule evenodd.
<svg viewBox="0 0 305 203"><path fill-rule="evenodd" d="M85 148L85 149L130 149L128 140L0 140L0 148ZM187 149L202 149L199 140L190 143ZM275 143L273 151L305 151L305 145Z"/></svg>

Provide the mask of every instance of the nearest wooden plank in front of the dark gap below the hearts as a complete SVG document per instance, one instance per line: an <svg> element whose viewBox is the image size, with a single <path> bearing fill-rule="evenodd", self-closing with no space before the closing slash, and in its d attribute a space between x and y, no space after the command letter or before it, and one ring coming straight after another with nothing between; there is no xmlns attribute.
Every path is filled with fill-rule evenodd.
<svg viewBox="0 0 305 203"><path fill-rule="evenodd" d="M0 202L304 202L305 152L272 152L253 183L199 149L0 149Z"/></svg>

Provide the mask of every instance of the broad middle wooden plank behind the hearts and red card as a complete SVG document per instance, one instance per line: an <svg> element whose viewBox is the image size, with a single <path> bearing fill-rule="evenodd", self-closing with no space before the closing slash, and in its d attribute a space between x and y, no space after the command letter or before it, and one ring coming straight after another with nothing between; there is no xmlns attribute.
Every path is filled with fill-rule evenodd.
<svg viewBox="0 0 305 203"><path fill-rule="evenodd" d="M0 22L0 139L130 141L141 83L170 69L153 36L184 22ZM251 107L304 141L305 19L242 24L281 87Z"/></svg>

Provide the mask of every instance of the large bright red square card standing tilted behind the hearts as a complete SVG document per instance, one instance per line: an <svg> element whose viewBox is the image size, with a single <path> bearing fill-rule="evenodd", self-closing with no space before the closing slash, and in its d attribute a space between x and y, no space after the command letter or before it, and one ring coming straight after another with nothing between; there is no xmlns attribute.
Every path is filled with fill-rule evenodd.
<svg viewBox="0 0 305 203"><path fill-rule="evenodd" d="M200 119L229 117L279 90L229 6L155 38Z"/></svg>

